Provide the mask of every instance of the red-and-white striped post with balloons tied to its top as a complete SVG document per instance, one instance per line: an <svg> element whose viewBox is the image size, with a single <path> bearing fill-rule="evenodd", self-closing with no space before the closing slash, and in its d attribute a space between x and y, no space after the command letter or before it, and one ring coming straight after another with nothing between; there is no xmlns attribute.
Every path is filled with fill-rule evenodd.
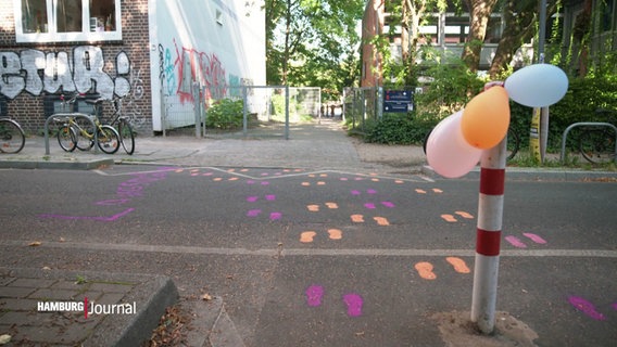
<svg viewBox="0 0 617 347"><path fill-rule="evenodd" d="M480 159L471 322L484 334L491 334L495 326L506 144L507 136L493 149L486 150Z"/></svg>

